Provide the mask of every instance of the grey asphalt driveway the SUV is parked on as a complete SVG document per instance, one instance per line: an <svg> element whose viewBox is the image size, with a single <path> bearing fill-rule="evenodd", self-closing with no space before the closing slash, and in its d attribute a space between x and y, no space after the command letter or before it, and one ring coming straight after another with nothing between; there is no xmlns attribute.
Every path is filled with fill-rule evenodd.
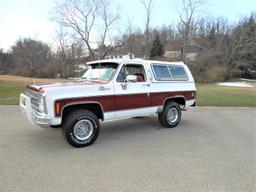
<svg viewBox="0 0 256 192"><path fill-rule="evenodd" d="M157 118L103 123L73 148L60 129L0 106L0 191L256 191L256 109L196 108L177 128Z"/></svg>

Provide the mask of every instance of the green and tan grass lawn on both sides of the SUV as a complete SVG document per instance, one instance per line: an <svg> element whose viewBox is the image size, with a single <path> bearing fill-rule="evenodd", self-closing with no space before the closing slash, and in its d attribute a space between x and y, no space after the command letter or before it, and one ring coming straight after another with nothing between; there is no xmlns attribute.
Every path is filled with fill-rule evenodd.
<svg viewBox="0 0 256 192"><path fill-rule="evenodd" d="M34 79L36 82L65 81ZM16 105L19 94L31 78L0 75L0 105ZM197 106L256 107L256 88L224 87L216 84L197 84Z"/></svg>

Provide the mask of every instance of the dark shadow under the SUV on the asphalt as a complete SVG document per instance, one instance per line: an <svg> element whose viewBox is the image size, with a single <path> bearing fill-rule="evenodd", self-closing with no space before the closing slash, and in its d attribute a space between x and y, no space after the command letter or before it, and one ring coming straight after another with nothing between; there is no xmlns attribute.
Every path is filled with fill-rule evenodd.
<svg viewBox="0 0 256 192"><path fill-rule="evenodd" d="M188 124L189 122L182 120L178 125L178 128L185 131ZM74 149L74 147L66 142L62 135L61 128L47 128L42 130L32 127L32 129L33 130L30 131L31 142L34 147L40 150L57 151L59 149L67 148ZM102 122L99 137L89 148L102 148L103 146L106 147L106 144L111 146L112 144L121 144L122 142L120 140L136 142L136 139L153 137L158 131L160 131L160 134L166 134L166 132L180 132L179 129L162 127L158 122L157 116Z"/></svg>

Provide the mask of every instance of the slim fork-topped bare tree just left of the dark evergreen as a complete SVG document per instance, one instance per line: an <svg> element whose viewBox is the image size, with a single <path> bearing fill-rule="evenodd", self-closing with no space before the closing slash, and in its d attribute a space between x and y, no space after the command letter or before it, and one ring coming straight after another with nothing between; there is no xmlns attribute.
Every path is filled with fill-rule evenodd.
<svg viewBox="0 0 256 192"><path fill-rule="evenodd" d="M141 0L143 7L146 10L146 21L145 21L145 30L146 30L146 57L149 58L149 27L151 20L151 13L153 8L153 0Z"/></svg>

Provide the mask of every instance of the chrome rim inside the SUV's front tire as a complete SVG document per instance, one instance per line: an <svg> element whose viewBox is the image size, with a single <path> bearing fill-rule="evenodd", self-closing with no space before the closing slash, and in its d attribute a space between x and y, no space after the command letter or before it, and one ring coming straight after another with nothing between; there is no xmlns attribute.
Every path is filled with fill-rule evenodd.
<svg viewBox="0 0 256 192"><path fill-rule="evenodd" d="M74 126L74 136L79 140L87 140L92 136L93 124L87 119L78 121Z"/></svg>

